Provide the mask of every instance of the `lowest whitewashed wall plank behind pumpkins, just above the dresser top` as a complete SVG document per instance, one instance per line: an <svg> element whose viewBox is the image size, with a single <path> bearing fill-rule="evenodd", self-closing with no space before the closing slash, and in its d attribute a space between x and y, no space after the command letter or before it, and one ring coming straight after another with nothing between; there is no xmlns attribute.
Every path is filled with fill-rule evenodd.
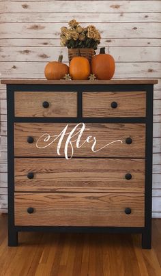
<svg viewBox="0 0 161 276"><path fill-rule="evenodd" d="M158 79L161 75L159 62L116 62L115 65L115 79ZM3 79L44 79L45 66L44 61L1 61L1 76Z"/></svg>

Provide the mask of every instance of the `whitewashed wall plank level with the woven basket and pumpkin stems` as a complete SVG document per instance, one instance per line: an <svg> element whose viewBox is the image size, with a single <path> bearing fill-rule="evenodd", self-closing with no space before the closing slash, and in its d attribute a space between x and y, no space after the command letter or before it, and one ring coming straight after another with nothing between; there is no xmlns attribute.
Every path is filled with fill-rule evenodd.
<svg viewBox="0 0 161 276"><path fill-rule="evenodd" d="M161 14L160 14L161 15ZM161 17L161 16L160 16ZM98 46L96 53L100 53ZM1 46L1 61L52 61L57 60L59 55L63 55L63 62L68 63L68 51L65 47L57 46L57 51L53 52L53 47L46 46ZM160 46L110 46L106 49L115 58L116 62L161 62Z"/></svg>

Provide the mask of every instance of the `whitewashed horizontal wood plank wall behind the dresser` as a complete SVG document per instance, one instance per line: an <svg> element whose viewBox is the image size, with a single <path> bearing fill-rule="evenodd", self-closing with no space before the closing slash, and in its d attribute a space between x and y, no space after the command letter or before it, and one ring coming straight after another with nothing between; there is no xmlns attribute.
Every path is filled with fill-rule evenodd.
<svg viewBox="0 0 161 276"><path fill-rule="evenodd" d="M1 1L0 78L44 78L47 61L67 49L59 29L76 18L93 24L115 57L115 79L159 79L153 102L153 217L161 217L161 1ZM6 92L1 93L0 211L7 212Z"/></svg>

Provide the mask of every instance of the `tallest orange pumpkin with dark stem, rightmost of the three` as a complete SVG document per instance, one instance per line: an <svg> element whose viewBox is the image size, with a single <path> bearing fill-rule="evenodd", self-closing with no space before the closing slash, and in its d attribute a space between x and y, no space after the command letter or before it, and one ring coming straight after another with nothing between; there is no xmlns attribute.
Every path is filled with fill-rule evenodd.
<svg viewBox="0 0 161 276"><path fill-rule="evenodd" d="M105 53L105 48L100 49L100 54L91 59L91 73L97 79L112 79L115 73L115 60Z"/></svg>

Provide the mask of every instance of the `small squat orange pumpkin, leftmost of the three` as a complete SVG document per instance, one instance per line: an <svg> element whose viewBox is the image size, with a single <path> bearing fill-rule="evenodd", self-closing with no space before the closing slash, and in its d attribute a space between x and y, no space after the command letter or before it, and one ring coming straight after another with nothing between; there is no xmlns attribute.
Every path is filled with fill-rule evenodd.
<svg viewBox="0 0 161 276"><path fill-rule="evenodd" d="M63 55L59 55L58 61L50 61L45 66L44 74L46 79L63 79L69 73L69 67L62 64Z"/></svg>

